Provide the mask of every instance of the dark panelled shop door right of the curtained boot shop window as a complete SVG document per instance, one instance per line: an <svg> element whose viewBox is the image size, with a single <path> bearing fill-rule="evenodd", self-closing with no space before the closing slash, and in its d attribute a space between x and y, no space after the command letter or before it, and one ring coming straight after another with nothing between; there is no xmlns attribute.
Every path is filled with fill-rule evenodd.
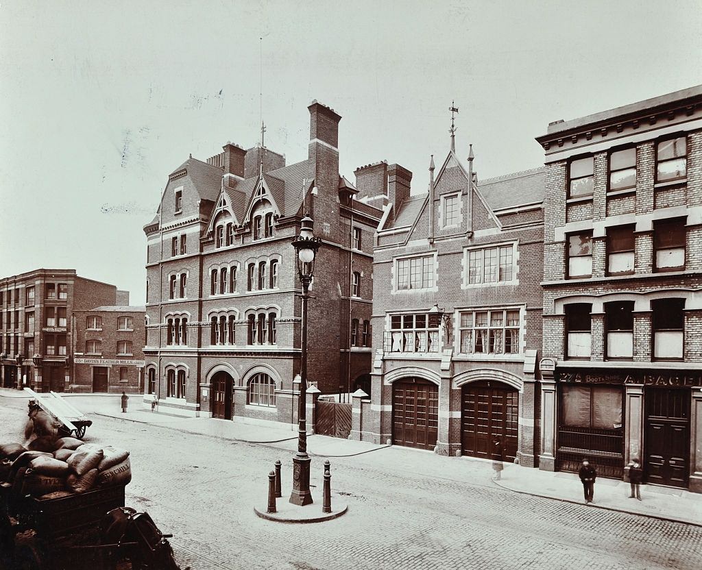
<svg viewBox="0 0 702 570"><path fill-rule="evenodd" d="M687 487L690 460L690 391L649 387L644 472L647 482Z"/></svg>

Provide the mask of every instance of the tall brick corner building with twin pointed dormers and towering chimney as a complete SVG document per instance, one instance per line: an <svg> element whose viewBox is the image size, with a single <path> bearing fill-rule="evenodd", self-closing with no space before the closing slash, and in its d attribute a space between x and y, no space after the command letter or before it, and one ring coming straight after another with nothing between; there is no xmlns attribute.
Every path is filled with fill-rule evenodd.
<svg viewBox="0 0 702 570"><path fill-rule="evenodd" d="M300 298L291 246L308 212L323 242L308 378L353 389L371 369L372 239L382 211L339 175L338 123L312 102L307 159L263 145L192 157L168 176L147 236L145 403L185 416L296 421Z"/></svg>

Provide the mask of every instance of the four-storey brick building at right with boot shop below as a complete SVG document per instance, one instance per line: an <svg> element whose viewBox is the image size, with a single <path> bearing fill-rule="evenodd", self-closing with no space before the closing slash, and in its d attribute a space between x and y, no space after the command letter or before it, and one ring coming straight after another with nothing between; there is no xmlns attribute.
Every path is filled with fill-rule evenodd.
<svg viewBox="0 0 702 570"><path fill-rule="evenodd" d="M545 150L540 467L702 491L702 86Z"/></svg>

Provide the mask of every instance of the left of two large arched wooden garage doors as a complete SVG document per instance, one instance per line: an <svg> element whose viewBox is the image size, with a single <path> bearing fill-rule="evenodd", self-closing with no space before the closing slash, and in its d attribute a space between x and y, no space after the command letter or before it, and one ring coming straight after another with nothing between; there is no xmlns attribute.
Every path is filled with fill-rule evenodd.
<svg viewBox="0 0 702 570"><path fill-rule="evenodd" d="M392 385L392 441L434 449L439 433L439 387L408 378Z"/></svg>

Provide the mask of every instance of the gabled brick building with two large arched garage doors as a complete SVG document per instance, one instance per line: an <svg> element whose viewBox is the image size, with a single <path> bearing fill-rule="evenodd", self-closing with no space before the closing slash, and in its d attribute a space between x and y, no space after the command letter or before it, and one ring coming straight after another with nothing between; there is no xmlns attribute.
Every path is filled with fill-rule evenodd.
<svg viewBox="0 0 702 570"><path fill-rule="evenodd" d="M452 144L453 147L453 144ZM478 182L452 150L430 187L385 162L356 171L388 197L373 250L371 399L352 438L534 466L540 392L543 168ZM472 184L469 183L472 180ZM366 198L367 197L367 198Z"/></svg>

